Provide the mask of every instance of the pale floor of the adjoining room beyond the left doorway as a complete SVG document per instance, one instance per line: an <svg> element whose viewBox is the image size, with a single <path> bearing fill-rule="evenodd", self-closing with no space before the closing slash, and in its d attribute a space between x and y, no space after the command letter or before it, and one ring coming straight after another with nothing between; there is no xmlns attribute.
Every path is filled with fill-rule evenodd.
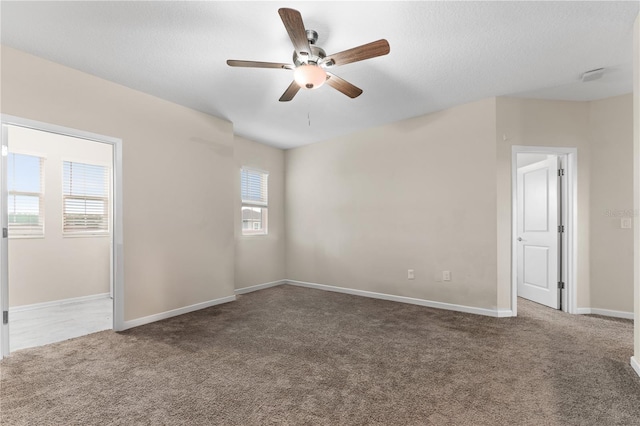
<svg viewBox="0 0 640 426"><path fill-rule="evenodd" d="M11 312L10 351L60 342L113 328L110 297L47 308Z"/></svg>

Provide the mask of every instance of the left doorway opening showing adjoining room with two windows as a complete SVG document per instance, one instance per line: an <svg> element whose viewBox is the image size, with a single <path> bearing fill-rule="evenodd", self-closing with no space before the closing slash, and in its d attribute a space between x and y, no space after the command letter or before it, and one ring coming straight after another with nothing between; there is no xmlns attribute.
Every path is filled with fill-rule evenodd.
<svg viewBox="0 0 640 426"><path fill-rule="evenodd" d="M2 116L0 358L121 330L119 139Z"/></svg>

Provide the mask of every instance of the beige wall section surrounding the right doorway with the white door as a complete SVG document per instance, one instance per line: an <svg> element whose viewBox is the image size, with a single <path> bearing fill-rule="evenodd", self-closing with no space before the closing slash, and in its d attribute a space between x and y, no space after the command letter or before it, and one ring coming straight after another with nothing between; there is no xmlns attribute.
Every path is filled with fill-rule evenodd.
<svg viewBox="0 0 640 426"><path fill-rule="evenodd" d="M511 298L511 151L513 145L578 149L577 305L590 307L589 105L586 102L497 99L498 294L501 307Z"/></svg>

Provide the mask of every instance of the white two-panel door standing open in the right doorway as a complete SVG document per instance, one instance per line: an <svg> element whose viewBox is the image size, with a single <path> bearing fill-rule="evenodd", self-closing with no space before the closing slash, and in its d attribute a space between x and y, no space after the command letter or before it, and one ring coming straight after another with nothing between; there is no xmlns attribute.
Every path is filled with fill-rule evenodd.
<svg viewBox="0 0 640 426"><path fill-rule="evenodd" d="M554 309L558 290L558 157L518 169L518 296Z"/></svg>

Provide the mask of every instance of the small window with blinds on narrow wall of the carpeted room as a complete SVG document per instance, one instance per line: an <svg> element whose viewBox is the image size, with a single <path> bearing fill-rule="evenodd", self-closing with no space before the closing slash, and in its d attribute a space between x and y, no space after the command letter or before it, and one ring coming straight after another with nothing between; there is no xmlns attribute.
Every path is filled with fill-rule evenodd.
<svg viewBox="0 0 640 426"><path fill-rule="evenodd" d="M240 172L242 235L267 233L267 180L269 174L252 169Z"/></svg>

